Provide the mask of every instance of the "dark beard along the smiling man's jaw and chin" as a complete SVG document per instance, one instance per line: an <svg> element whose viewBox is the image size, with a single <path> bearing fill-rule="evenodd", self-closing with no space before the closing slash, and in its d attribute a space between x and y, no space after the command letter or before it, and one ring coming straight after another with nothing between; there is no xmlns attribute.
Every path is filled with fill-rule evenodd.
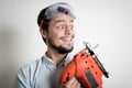
<svg viewBox="0 0 132 88"><path fill-rule="evenodd" d="M52 48L56 50L57 53L59 53L59 54L70 53L70 52L74 50L74 46L72 46L72 48L69 48L69 50L66 48L66 47L64 47L64 46L62 46L62 45L57 46L57 45L55 45L55 44L53 43L53 41L50 40L50 38L48 38L48 44L50 44L50 46L51 46Z"/></svg>

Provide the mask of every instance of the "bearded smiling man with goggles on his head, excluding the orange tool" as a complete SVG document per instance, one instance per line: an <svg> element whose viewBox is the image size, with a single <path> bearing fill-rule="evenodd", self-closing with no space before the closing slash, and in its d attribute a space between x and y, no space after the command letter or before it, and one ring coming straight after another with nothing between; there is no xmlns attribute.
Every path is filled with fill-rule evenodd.
<svg viewBox="0 0 132 88"><path fill-rule="evenodd" d="M63 68L72 61L75 15L69 4L58 2L43 9L37 18L41 35L47 46L42 58L23 66L16 76L16 88L79 88L75 77L59 84Z"/></svg>

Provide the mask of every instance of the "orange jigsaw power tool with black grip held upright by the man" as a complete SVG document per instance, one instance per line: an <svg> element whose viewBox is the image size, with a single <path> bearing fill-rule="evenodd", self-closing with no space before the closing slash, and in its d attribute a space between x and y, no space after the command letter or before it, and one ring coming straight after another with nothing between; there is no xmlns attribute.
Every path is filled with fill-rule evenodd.
<svg viewBox="0 0 132 88"><path fill-rule="evenodd" d="M102 88L102 75L109 78L105 69L88 43L86 48L77 53L73 61L64 68L61 75L61 82L65 84L72 77L76 77L81 88Z"/></svg>

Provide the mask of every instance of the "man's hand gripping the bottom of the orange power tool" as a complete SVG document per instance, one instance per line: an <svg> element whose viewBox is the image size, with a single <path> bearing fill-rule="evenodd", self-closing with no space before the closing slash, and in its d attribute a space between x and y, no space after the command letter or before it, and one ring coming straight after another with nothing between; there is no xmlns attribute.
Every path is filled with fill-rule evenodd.
<svg viewBox="0 0 132 88"><path fill-rule="evenodd" d="M61 84L57 86L57 88L80 88L80 84L75 77L73 77L66 84Z"/></svg>

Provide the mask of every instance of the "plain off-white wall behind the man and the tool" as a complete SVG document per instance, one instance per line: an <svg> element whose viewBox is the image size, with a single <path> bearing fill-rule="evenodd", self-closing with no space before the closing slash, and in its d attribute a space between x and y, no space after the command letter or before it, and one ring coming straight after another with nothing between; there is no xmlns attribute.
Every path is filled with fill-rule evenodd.
<svg viewBox="0 0 132 88"><path fill-rule="evenodd" d="M0 88L13 88L16 70L41 57L43 43L36 18L41 9L61 0L0 0ZM131 88L132 85L132 1L63 0L70 3L75 21L75 51L82 42L100 44L99 59L110 73L103 88Z"/></svg>

